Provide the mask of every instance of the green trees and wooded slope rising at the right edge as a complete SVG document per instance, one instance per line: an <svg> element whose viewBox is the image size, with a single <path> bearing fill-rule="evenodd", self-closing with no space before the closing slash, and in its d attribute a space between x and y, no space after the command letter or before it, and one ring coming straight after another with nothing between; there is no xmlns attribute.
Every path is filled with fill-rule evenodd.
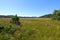
<svg viewBox="0 0 60 40"><path fill-rule="evenodd" d="M52 18L55 20L60 20L60 10L54 10L52 14L43 15L39 18Z"/></svg>

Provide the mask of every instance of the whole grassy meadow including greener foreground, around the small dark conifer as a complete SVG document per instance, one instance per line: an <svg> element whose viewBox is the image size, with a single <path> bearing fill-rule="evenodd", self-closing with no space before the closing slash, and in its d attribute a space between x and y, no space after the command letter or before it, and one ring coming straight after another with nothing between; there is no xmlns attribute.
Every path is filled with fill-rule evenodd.
<svg viewBox="0 0 60 40"><path fill-rule="evenodd" d="M5 29L9 25L14 33L1 32L0 40L60 40L60 21L50 18L20 18L21 26L9 23L11 19L0 18Z"/></svg>

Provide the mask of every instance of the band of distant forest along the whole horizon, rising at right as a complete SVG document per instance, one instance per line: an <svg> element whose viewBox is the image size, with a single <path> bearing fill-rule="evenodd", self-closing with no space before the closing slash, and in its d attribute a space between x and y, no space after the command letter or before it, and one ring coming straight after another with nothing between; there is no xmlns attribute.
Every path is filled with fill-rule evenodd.
<svg viewBox="0 0 60 40"><path fill-rule="evenodd" d="M11 18L12 16L14 15L0 15L0 18ZM60 10L54 10L54 12L52 14L46 14L46 15L43 15L43 16L40 16L40 17L22 17L22 16L19 16L20 18L51 18L51 17L60 17Z"/></svg>

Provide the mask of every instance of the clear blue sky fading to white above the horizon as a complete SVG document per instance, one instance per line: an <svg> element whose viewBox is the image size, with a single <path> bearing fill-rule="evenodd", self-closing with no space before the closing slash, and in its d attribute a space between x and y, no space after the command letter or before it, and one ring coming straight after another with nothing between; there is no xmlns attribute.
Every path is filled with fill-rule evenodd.
<svg viewBox="0 0 60 40"><path fill-rule="evenodd" d="M0 0L0 15L42 16L60 9L60 0Z"/></svg>

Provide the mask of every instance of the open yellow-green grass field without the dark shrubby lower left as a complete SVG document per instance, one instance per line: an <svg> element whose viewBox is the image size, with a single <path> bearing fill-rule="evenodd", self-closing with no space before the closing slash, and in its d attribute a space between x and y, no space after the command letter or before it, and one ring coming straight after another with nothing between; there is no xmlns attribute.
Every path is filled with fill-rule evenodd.
<svg viewBox="0 0 60 40"><path fill-rule="evenodd" d="M31 36L26 34L26 39L23 40L60 40L60 21L49 18L21 18L20 21L22 28L27 30L24 30L23 34L26 34L28 30L35 31ZM10 19L0 18L0 22L9 23ZM19 27L17 29L20 30ZM18 33L14 36L18 36Z"/></svg>

